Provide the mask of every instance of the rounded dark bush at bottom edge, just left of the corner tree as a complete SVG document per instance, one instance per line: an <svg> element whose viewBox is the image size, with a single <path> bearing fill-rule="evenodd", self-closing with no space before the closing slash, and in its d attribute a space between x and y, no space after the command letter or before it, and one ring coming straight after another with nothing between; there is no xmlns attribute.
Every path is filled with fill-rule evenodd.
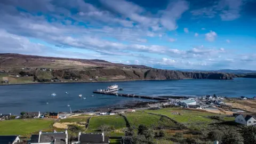
<svg viewBox="0 0 256 144"><path fill-rule="evenodd" d="M235 132L233 130L229 130L226 132L222 137L222 143L225 144L243 144L244 139L242 135L238 132Z"/></svg>

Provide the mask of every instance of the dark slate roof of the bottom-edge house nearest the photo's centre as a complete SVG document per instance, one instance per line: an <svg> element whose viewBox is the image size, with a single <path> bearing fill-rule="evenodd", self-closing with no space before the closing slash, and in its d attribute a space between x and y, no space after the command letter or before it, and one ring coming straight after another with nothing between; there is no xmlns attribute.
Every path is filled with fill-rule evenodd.
<svg viewBox="0 0 256 144"><path fill-rule="evenodd" d="M109 138L104 137L104 141L102 139L101 134L89 134L89 133L84 133L80 135L80 142L81 144L85 143L108 143Z"/></svg>

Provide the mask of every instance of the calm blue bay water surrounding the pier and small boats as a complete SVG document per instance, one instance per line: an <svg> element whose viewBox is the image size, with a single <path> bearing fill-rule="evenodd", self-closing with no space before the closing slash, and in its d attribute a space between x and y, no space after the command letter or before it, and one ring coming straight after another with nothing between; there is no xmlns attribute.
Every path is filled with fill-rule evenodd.
<svg viewBox="0 0 256 144"><path fill-rule="evenodd" d="M93 94L97 89L106 89L108 85L123 87L121 93L139 95L180 95L202 96L217 94L226 97L256 96L256 79L237 78L233 81L210 79L183 79L173 81L130 81L106 83L60 83L0 86L0 113L19 114L21 111L69 111L97 108L138 98L115 97L112 95ZM69 94L65 94L68 92ZM56 93L56 96L51 96ZM82 94L86 99L78 97ZM94 97L91 97L94 95ZM142 100L142 99L141 99ZM145 100L145 99L143 99ZM48 104L46 104L48 102Z"/></svg>

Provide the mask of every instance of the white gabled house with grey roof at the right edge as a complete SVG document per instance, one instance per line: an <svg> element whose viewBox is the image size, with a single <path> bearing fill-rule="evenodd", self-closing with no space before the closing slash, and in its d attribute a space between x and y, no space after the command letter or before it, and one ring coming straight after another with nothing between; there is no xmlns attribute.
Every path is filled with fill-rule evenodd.
<svg viewBox="0 0 256 144"><path fill-rule="evenodd" d="M256 113L239 114L235 122L246 126L256 125Z"/></svg>

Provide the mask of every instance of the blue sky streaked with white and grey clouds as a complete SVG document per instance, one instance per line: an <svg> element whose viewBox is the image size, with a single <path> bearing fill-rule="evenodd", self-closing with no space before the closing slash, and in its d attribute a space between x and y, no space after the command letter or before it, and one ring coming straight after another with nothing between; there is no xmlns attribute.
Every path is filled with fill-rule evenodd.
<svg viewBox="0 0 256 144"><path fill-rule="evenodd" d="M0 53L256 70L256 0L1 0Z"/></svg>

